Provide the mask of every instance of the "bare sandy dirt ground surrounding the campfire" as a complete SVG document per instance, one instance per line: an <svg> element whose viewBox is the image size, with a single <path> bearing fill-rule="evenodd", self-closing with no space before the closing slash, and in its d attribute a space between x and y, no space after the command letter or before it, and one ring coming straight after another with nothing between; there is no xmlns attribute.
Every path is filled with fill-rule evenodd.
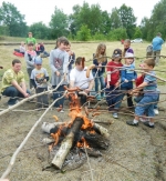
<svg viewBox="0 0 166 181"><path fill-rule="evenodd" d="M160 87L164 92L165 87ZM164 100L165 95L160 97ZM7 108L7 99L2 99L1 108ZM160 103L159 107L164 107ZM102 105L104 108L104 104ZM20 145L34 122L43 111L33 111L34 103L21 105L23 110L31 112L11 111L0 118L0 174L7 169L12 153ZM52 115L58 115L60 121L66 121L68 100L65 112L59 113L52 109L43 118L42 122L53 122ZM158 117L166 117L160 111ZM95 181L165 181L166 180L166 121L157 119L155 129L149 129L139 123L138 128L128 127L125 122L132 119L129 115L120 115L111 125L102 124L110 132L110 148L102 151L103 157L90 158L90 163ZM98 117L101 121L113 120L112 114L104 113ZM9 175L12 181L89 181L91 172L85 161L76 168L68 167L62 171L42 170L49 165L48 145L41 140L48 134L41 131L41 124L35 129L23 150L19 153L15 165Z"/></svg>

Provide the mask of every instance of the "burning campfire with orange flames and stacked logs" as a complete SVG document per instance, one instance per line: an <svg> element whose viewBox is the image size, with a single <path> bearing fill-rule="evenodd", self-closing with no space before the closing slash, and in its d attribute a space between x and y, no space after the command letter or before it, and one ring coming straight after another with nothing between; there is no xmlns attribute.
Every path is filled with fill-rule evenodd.
<svg viewBox="0 0 166 181"><path fill-rule="evenodd" d="M70 120L59 122L59 118L53 115L54 123L43 122L42 124L42 130L51 135L51 139L45 138L43 142L50 144L49 151L53 154L51 163L56 169L62 169L74 152L80 159L84 157L85 151L89 155L101 157L100 150L108 148L107 129L93 121L94 117L100 114L98 110L87 110L80 105L80 99L75 93L80 91L79 88L68 89L65 87L65 89L70 99ZM83 92L80 91L80 93ZM94 98L87 95L89 101L92 99Z"/></svg>

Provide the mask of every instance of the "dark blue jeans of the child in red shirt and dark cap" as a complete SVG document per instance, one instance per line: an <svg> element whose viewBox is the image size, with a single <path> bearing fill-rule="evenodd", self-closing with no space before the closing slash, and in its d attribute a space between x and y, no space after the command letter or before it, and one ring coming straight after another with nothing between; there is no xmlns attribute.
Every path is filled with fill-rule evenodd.
<svg viewBox="0 0 166 181"><path fill-rule="evenodd" d="M120 90L118 88L115 89L115 86L110 86L110 89L106 88L106 102L108 104L108 110L118 109L121 105L121 92L116 91ZM113 91L114 90L114 91ZM113 92L112 92L113 91Z"/></svg>

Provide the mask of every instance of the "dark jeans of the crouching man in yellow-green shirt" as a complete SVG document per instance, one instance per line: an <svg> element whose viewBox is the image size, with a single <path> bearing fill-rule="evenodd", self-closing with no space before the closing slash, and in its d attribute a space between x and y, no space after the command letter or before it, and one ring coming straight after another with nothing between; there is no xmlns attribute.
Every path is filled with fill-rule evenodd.
<svg viewBox="0 0 166 181"><path fill-rule="evenodd" d="M30 94L30 91L27 90L27 93ZM3 95L6 97L10 97L9 101L8 101L8 105L13 105L15 104L17 100L19 98L24 98L24 95L18 91L18 89L15 87L8 87L3 92Z"/></svg>

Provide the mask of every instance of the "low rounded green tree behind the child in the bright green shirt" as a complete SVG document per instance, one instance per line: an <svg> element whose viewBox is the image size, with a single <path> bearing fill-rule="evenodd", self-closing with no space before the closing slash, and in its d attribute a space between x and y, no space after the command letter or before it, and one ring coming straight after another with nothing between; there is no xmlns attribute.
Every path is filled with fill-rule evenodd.
<svg viewBox="0 0 166 181"><path fill-rule="evenodd" d="M30 26L29 31L33 32L33 37L37 39L49 39L50 29L42 22L37 22Z"/></svg>

